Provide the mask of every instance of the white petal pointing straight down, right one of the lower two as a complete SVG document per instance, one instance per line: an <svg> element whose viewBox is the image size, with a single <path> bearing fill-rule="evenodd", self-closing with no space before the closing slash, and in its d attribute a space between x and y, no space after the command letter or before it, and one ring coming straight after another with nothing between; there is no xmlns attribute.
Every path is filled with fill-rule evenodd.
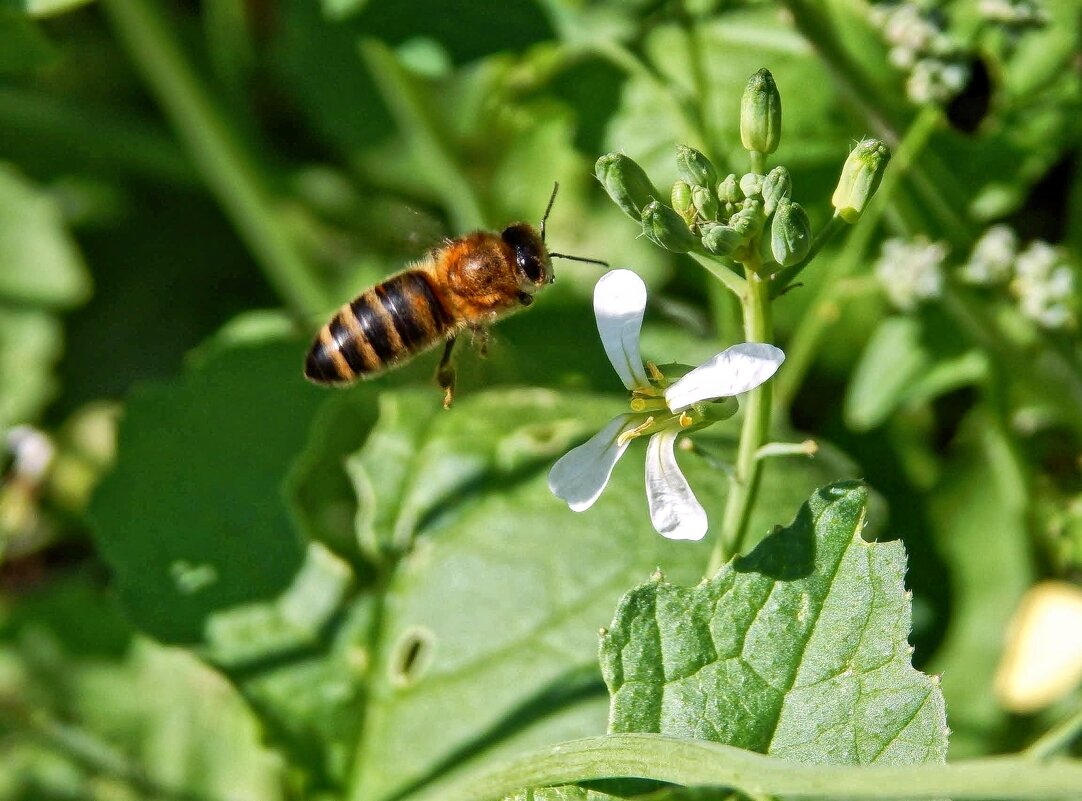
<svg viewBox="0 0 1082 801"><path fill-rule="evenodd" d="M707 510L696 500L676 463L673 446L677 433L662 431L650 437L646 448L646 501L658 534L669 539L698 540L707 536Z"/></svg>

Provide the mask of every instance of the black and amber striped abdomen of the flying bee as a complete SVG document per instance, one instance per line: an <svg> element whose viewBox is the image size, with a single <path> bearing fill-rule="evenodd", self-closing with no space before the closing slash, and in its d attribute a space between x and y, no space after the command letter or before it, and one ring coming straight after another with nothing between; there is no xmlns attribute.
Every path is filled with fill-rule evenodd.
<svg viewBox="0 0 1082 801"><path fill-rule="evenodd" d="M428 275L409 270L342 306L304 363L317 383L342 383L393 367L445 339L453 323Z"/></svg>

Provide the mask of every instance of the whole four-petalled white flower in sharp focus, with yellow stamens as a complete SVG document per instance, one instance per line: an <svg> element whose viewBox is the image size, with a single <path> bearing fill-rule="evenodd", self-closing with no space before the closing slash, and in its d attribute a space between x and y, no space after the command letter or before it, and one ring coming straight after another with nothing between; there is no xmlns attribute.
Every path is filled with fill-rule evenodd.
<svg viewBox="0 0 1082 801"><path fill-rule="evenodd" d="M670 539L698 540L707 534L707 512L676 463L676 437L736 413L734 395L768 380L786 355L774 345L745 342L672 381L652 364L643 364L638 333L645 311L646 285L635 273L613 270L597 281L597 331L612 368L631 393L630 410L565 454L549 473L549 487L573 511L590 509L631 441L648 436L650 522ZM676 371L667 370L675 377Z"/></svg>

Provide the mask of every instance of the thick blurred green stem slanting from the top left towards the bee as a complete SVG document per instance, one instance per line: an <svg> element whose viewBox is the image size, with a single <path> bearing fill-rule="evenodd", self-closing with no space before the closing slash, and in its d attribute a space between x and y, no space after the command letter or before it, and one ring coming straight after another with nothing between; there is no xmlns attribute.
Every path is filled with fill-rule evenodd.
<svg viewBox="0 0 1082 801"><path fill-rule="evenodd" d="M263 176L146 0L104 0L118 38L275 291L303 319L333 305L275 213Z"/></svg>

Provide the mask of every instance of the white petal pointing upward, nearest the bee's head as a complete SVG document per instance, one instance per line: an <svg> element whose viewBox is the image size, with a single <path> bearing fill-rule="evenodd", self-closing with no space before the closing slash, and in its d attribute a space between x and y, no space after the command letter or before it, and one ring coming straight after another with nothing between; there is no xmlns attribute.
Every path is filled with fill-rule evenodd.
<svg viewBox="0 0 1082 801"><path fill-rule="evenodd" d="M629 390L649 386L638 355L638 331L646 311L646 285L630 270L613 270L594 287L594 316L605 354Z"/></svg>

